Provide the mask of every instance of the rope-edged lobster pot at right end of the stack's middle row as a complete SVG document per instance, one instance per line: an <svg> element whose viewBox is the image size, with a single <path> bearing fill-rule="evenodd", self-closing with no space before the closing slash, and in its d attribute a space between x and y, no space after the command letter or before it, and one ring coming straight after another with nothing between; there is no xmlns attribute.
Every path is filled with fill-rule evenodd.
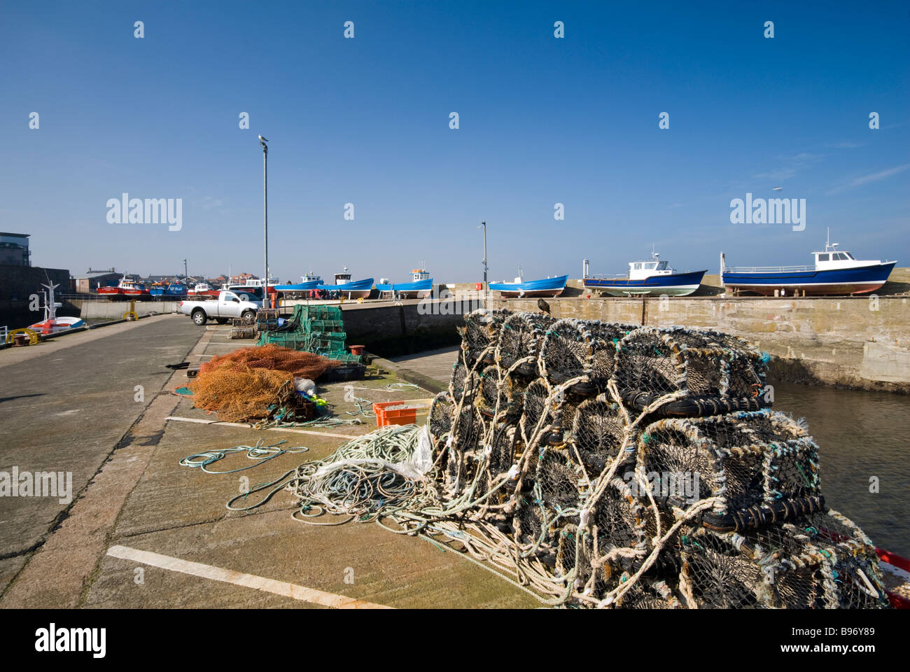
<svg viewBox="0 0 910 672"><path fill-rule="evenodd" d="M742 412L648 425L637 463L668 506L717 497L704 524L716 531L756 529L824 504L817 446L778 412Z"/></svg>

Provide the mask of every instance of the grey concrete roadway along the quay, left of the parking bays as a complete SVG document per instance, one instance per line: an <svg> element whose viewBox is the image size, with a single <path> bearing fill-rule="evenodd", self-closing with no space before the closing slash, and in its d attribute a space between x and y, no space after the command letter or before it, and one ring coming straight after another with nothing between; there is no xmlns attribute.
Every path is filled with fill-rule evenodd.
<svg viewBox="0 0 910 672"><path fill-rule="evenodd" d="M0 352L0 472L72 473L80 493L170 377L164 364L197 341L187 322L154 318ZM42 544L71 505L60 499L0 497L0 554Z"/></svg>

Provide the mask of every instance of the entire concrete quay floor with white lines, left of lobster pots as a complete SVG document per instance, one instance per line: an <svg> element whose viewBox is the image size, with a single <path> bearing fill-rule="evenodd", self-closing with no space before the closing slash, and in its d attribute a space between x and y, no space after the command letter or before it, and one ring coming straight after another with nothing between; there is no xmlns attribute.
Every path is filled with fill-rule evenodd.
<svg viewBox="0 0 910 672"><path fill-rule="evenodd" d="M0 471L72 472L75 492L69 504L0 498L0 607L540 606L457 552L418 538L376 524L295 522L287 492L256 513L228 512L240 475L253 486L270 481L375 428L372 419L309 433L207 423L212 416L170 393L185 373L164 365L251 343L228 340L228 331L162 315L0 352ZM426 373L438 378L447 357L441 352ZM430 396L389 391L398 381L392 372L357 382L373 388L357 394ZM341 417L353 417L343 387L320 390ZM285 439L309 452L242 474L177 464L190 453L258 439ZM243 455L232 460L213 468L247 463Z"/></svg>

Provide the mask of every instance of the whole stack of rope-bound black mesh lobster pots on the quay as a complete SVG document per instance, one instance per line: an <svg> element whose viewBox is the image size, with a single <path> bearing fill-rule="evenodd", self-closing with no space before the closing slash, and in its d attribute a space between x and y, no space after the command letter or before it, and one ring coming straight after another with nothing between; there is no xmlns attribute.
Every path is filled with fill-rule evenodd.
<svg viewBox="0 0 910 672"><path fill-rule="evenodd" d="M818 447L769 408L767 361L716 331L474 311L430 411L433 477L552 604L887 606Z"/></svg>

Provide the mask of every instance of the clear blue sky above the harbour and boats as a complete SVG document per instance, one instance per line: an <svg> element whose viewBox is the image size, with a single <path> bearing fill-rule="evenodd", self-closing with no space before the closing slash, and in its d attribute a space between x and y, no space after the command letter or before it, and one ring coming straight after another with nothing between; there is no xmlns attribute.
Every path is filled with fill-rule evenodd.
<svg viewBox="0 0 910 672"><path fill-rule="evenodd" d="M808 263L829 226L910 265L904 2L0 7L0 229L35 265L261 274L259 133L280 280L480 280L483 219L490 280L652 243L680 270ZM109 224L123 192L183 199L183 228ZM805 229L731 224L747 192L806 199Z"/></svg>

